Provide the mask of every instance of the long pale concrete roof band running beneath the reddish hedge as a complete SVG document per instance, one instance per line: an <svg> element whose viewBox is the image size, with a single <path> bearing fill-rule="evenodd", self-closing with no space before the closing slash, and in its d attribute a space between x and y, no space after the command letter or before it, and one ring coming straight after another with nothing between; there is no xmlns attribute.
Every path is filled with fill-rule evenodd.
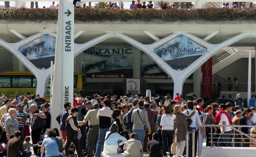
<svg viewBox="0 0 256 157"><path fill-rule="evenodd" d="M43 29L43 24L46 24L46 29ZM57 21L16 21L16 20L1 20L0 22L0 38L7 42L17 42L20 39L9 30L13 29L18 33L28 37L40 31L56 32ZM144 44L154 42L143 31L149 31L159 38L164 38L167 35L176 32L191 33L199 38L204 38L213 31L219 31L217 35L211 38L208 42L217 44L228 40L229 38L238 35L245 31L256 31L255 21L187 21L187 22L163 22L155 20L151 22L128 21L128 22L75 22L75 33L85 31L75 42L84 43L91 39L103 35L106 32L121 32L131 38L138 40ZM126 42L119 39L108 39L99 45L127 45ZM255 46L255 39L246 38L236 42L232 46Z"/></svg>

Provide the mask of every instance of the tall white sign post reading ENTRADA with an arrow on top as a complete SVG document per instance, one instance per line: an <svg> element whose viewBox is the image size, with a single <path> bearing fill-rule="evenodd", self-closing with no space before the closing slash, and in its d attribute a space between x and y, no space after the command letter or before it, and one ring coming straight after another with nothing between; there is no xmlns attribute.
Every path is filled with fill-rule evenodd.
<svg viewBox="0 0 256 157"><path fill-rule="evenodd" d="M59 1L54 63L51 128L59 126L55 118L64 109L64 103L73 105L74 5L67 0Z"/></svg>

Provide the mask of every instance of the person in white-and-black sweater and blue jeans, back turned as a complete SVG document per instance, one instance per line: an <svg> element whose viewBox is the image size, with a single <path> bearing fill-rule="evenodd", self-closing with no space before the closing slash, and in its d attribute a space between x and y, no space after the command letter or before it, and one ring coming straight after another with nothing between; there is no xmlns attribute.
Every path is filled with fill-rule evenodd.
<svg viewBox="0 0 256 157"><path fill-rule="evenodd" d="M95 157L101 157L101 147L105 139L105 135L111 126L111 118L113 111L110 110L110 101L103 100L103 108L99 109L97 119L99 120L98 142L96 146Z"/></svg>

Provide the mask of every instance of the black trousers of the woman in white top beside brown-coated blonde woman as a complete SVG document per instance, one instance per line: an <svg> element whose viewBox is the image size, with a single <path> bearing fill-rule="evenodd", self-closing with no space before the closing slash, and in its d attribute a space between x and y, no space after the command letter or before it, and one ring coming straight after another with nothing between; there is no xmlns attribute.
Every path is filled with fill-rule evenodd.
<svg viewBox="0 0 256 157"><path fill-rule="evenodd" d="M173 140L174 131L162 130L162 139L164 143L164 156L167 156L166 152L169 151L171 154L171 144Z"/></svg>

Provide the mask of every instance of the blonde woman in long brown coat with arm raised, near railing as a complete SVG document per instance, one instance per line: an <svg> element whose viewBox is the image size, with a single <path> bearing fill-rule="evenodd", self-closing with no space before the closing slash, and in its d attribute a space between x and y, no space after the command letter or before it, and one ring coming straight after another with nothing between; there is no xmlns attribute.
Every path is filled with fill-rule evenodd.
<svg viewBox="0 0 256 157"><path fill-rule="evenodd" d="M189 103L189 102L187 102ZM197 107L194 106L192 113L190 115L185 115L182 113L182 106L174 106L174 143L176 143L176 155L183 155L183 151L186 144L186 133L187 133L187 119L191 118L196 111Z"/></svg>

